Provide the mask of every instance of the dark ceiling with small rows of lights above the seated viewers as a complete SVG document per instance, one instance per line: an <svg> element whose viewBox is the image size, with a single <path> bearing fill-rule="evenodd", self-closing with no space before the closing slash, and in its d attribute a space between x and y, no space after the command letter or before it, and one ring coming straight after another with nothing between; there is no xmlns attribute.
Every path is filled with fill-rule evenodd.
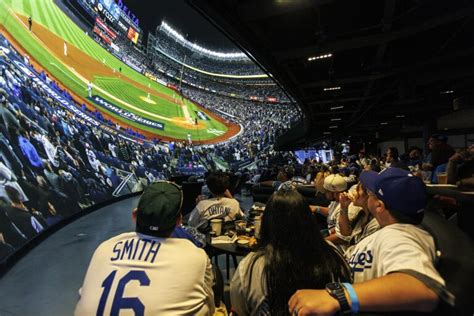
<svg viewBox="0 0 474 316"><path fill-rule="evenodd" d="M188 3L298 102L305 114L300 145L421 133L452 111L454 98L473 93L472 0ZM308 61L325 54L332 56ZM331 87L340 89L324 90Z"/></svg>

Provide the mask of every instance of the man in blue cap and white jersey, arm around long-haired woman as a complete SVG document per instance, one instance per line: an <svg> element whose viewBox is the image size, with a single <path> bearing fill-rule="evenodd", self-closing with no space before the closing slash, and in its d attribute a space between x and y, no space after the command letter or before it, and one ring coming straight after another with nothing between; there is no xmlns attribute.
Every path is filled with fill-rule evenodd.
<svg viewBox="0 0 474 316"><path fill-rule="evenodd" d="M360 311L423 311L445 294L434 267L433 238L418 225L426 192L422 180L399 168L364 171L369 211L382 227L357 244L349 259L354 285L331 283L327 290L300 290L290 299L297 315Z"/></svg>

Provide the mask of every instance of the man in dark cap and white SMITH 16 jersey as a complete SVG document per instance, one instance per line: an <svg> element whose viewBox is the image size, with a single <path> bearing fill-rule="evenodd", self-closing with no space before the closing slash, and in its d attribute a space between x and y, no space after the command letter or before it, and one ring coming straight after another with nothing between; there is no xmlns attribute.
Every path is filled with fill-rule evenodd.
<svg viewBox="0 0 474 316"><path fill-rule="evenodd" d="M183 195L170 182L145 189L133 211L135 232L95 251L75 315L212 315L212 267L186 239L169 238L181 222Z"/></svg>

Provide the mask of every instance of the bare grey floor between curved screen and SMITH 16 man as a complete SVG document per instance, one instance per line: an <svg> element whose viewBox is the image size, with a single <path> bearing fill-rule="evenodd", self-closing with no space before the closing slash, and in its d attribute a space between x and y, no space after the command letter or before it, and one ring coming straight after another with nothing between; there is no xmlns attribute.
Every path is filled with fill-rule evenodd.
<svg viewBox="0 0 474 316"><path fill-rule="evenodd" d="M44 240L0 279L0 315L72 315L96 247L133 231L139 197L114 203L67 225Z"/></svg>

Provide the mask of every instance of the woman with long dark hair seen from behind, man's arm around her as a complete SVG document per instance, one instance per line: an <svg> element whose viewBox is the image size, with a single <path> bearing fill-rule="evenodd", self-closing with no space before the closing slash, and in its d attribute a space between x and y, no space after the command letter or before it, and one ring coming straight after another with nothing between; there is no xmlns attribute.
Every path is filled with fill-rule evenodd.
<svg viewBox="0 0 474 316"><path fill-rule="evenodd" d="M298 289L350 281L344 258L322 237L306 199L296 190L272 195L262 218L259 249L240 262L230 286L242 315L285 315Z"/></svg>

